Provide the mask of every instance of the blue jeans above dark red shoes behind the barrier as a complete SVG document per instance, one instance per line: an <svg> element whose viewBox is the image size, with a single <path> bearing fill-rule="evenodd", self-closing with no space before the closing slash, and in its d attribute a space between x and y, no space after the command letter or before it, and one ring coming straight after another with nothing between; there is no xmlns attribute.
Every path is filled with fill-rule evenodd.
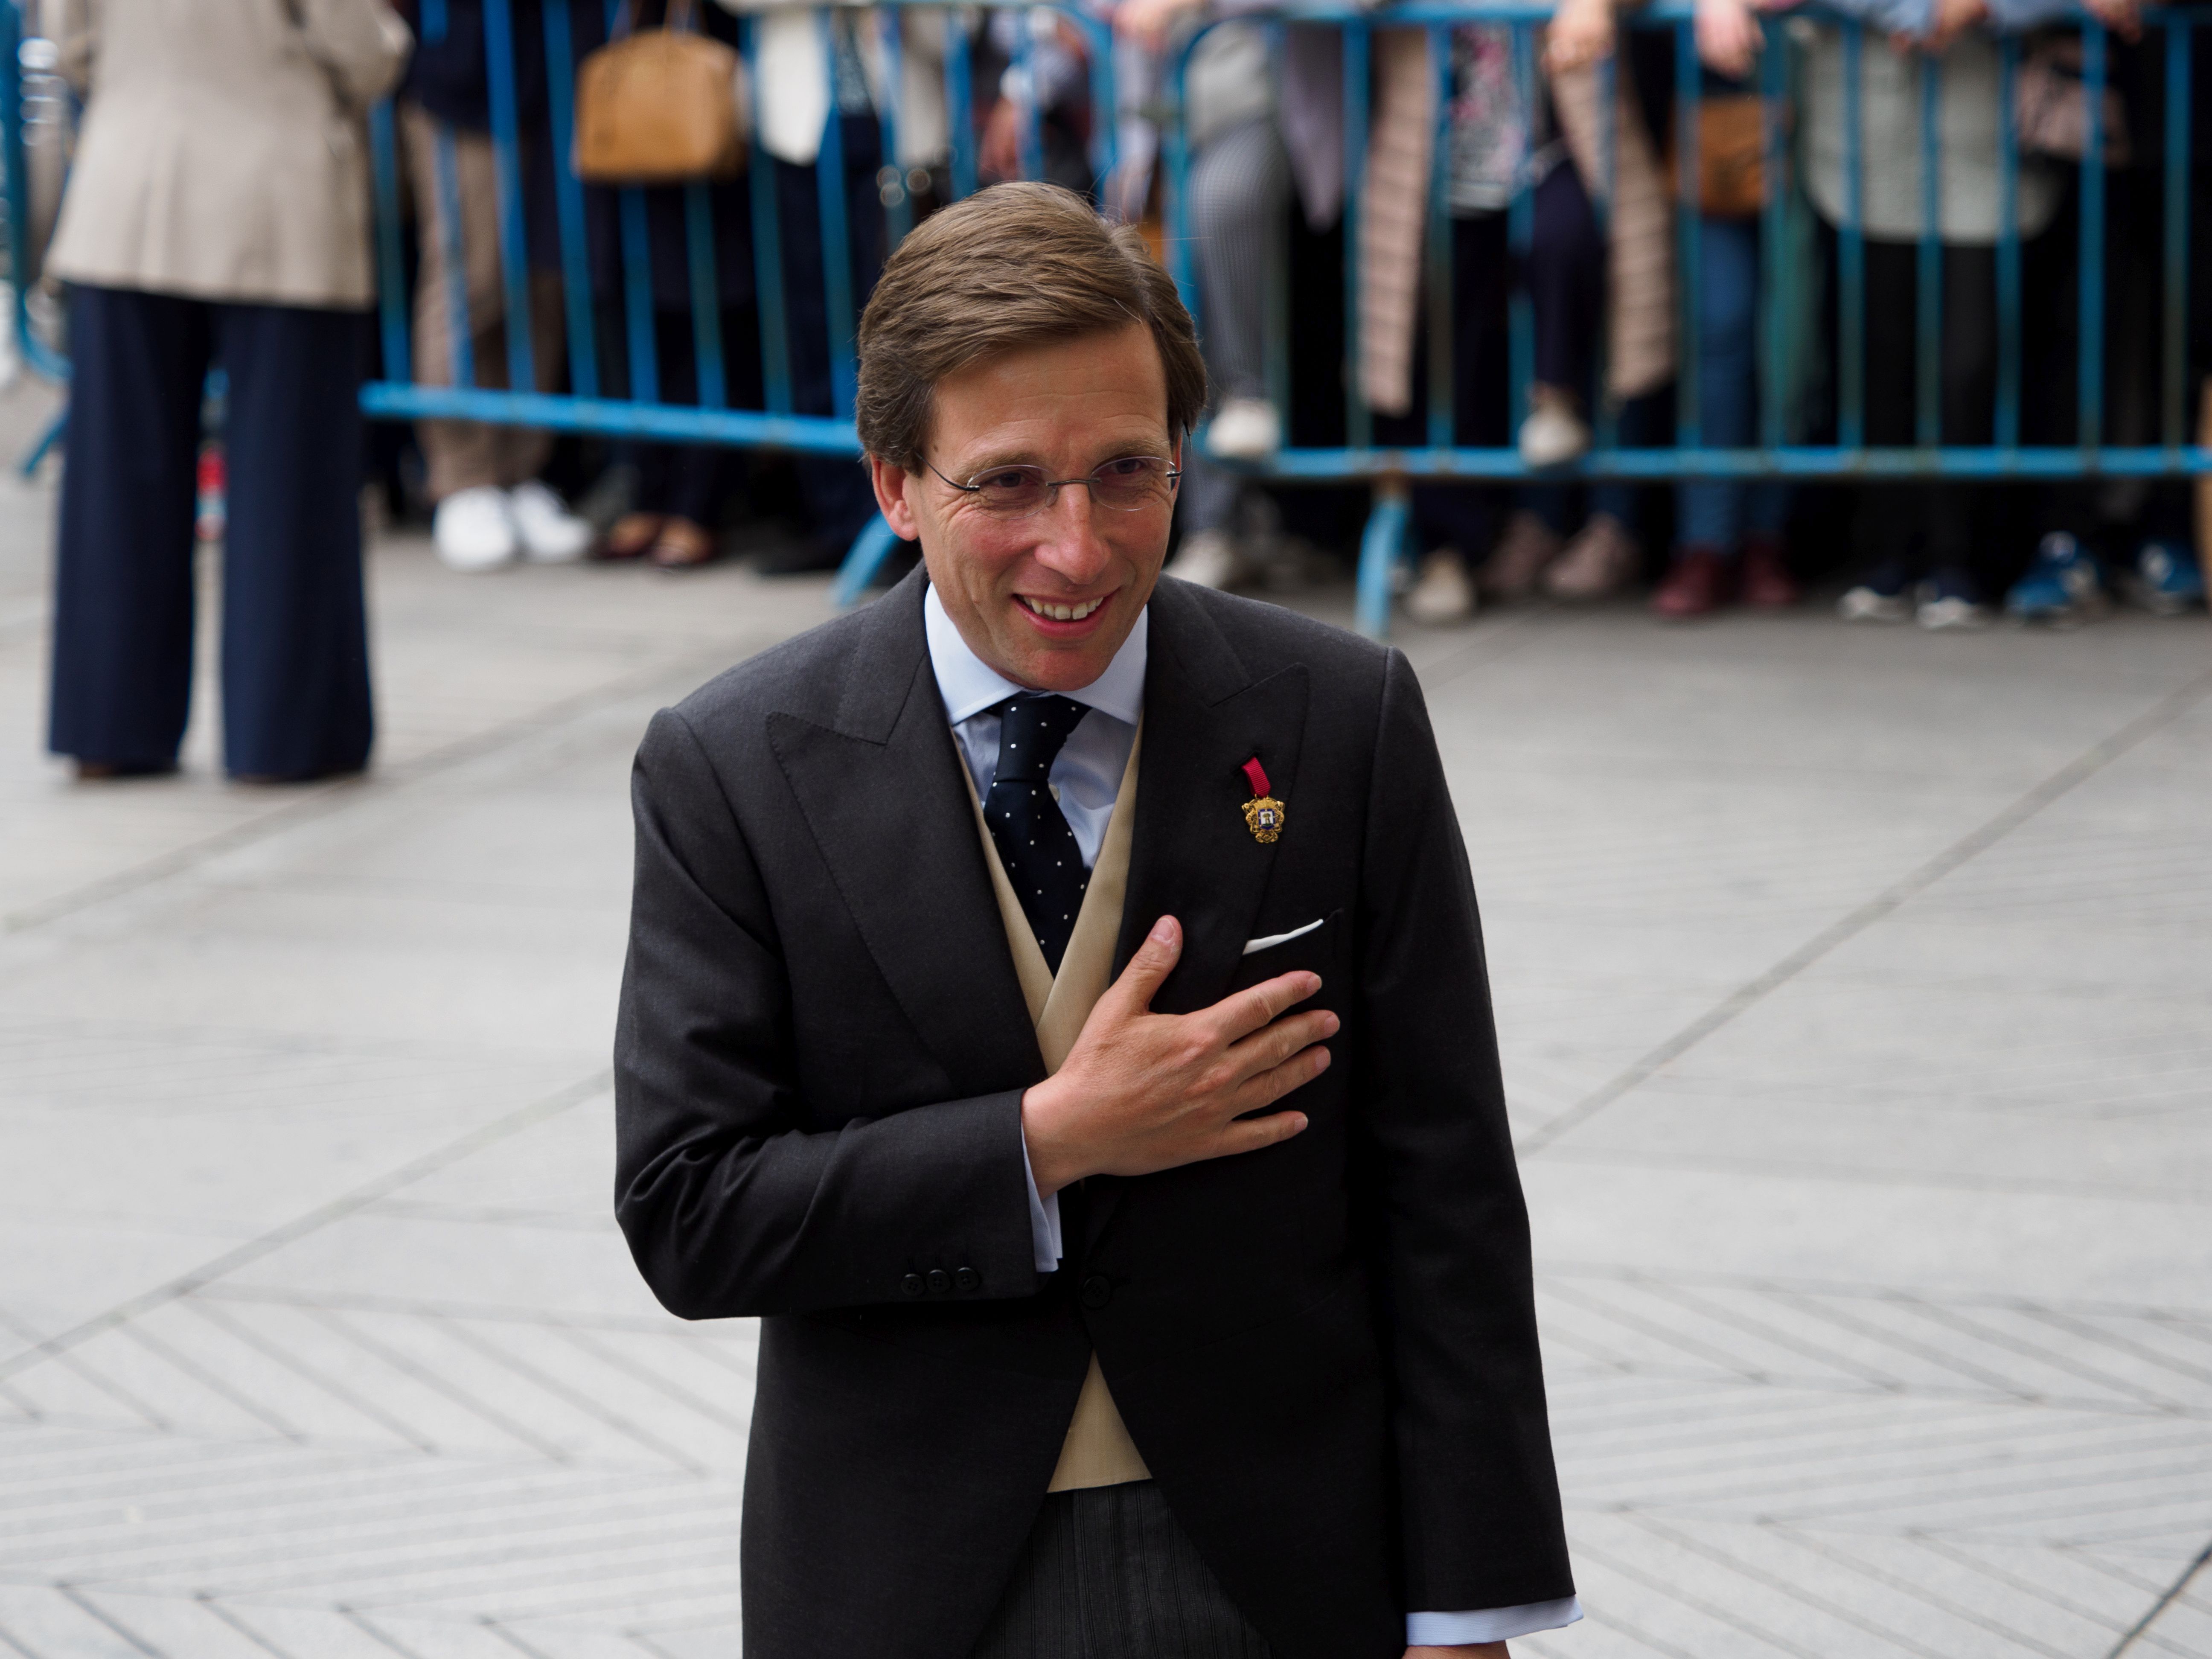
<svg viewBox="0 0 2212 1659"><path fill-rule="evenodd" d="M1697 414L1708 449L1739 449L1759 431L1759 221L1703 219L1697 303ZM1745 535L1776 538L1790 513L1778 482L1714 480L1674 487L1674 540L1736 553Z"/></svg>

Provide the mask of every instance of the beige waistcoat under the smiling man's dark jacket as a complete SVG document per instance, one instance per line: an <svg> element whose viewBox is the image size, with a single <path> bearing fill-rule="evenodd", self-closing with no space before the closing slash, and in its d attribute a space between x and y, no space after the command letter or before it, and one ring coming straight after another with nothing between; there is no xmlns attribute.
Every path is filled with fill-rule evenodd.
<svg viewBox="0 0 2212 1659"><path fill-rule="evenodd" d="M1013 971L1022 980L1022 998L1029 1002L1029 1018L1037 1026L1037 1048L1044 1051L1044 1068L1060 1071L1075 1037L1082 1035L1091 1009L1106 995L1113 982L1113 947L1121 936L1121 898L1128 891L1128 847L1137 818L1137 752L1144 748L1144 728L1128 745L1128 765L1121 770L1121 790L1115 794L1113 816L1106 821L1106 841L1099 843L1097 863L1091 867L1091 885L1084 889L1084 907L1075 914L1075 933L1060 958L1057 978L1044 964L1037 936L1029 931L1022 900L1006 880L1006 867L991 843L991 830L975 807L975 832L982 836L984 865L991 869L991 891L998 894L998 916L1006 925L1006 947L1013 951ZM960 776L969 776L967 765ZM975 781L969 779L969 801L975 799ZM1075 1400L1075 1420L1068 1422L1066 1444L1060 1447L1060 1467L1053 1469L1053 1484L1046 1491L1073 1491L1075 1486L1117 1486L1124 1480L1150 1480L1137 1442L1121 1425L1121 1411L1106 1391L1106 1376L1099 1371L1097 1354L1084 1374L1084 1391Z"/></svg>

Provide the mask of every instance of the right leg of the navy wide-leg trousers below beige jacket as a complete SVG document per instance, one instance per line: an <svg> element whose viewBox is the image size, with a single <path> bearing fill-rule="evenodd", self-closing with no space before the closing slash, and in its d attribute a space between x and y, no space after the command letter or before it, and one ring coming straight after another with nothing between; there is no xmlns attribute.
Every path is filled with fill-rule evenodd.
<svg viewBox="0 0 2212 1659"><path fill-rule="evenodd" d="M241 779L369 759L361 582L361 312L219 305L230 372L223 765Z"/></svg>

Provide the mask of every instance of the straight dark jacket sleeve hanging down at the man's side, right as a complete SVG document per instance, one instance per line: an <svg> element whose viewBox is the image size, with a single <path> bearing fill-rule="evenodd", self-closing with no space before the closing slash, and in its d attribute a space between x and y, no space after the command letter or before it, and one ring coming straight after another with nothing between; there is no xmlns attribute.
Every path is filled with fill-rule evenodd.
<svg viewBox="0 0 2212 1659"><path fill-rule="evenodd" d="M1389 655L1360 900L1360 1124L1409 1608L1575 1593L1482 925L1429 712Z"/></svg>

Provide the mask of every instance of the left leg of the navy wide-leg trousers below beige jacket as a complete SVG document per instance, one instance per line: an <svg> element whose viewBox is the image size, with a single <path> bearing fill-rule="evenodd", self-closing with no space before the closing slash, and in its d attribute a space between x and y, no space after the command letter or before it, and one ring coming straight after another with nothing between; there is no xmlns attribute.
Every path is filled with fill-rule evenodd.
<svg viewBox="0 0 2212 1659"><path fill-rule="evenodd" d="M69 343L46 745L86 770L166 772L192 695L208 307L75 285Z"/></svg>

